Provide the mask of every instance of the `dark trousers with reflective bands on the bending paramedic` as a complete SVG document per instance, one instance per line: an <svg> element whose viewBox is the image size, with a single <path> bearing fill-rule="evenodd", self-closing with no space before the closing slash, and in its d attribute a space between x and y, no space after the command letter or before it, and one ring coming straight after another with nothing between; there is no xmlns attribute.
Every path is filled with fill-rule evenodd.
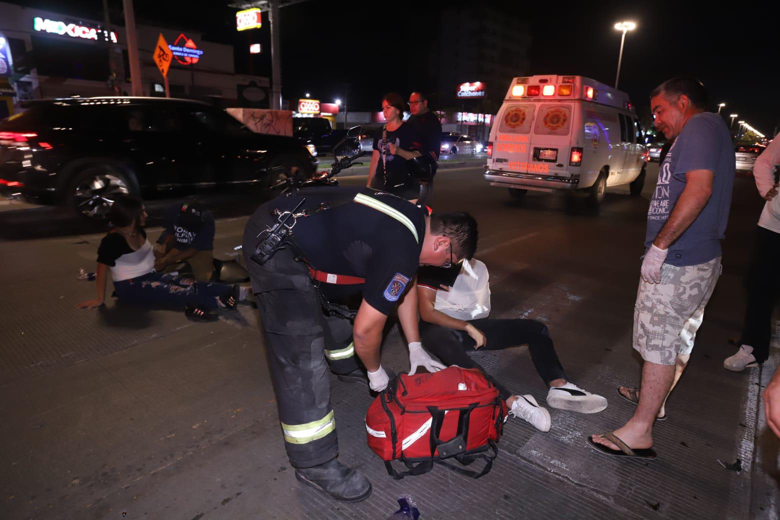
<svg viewBox="0 0 780 520"><path fill-rule="evenodd" d="M253 241L247 232L246 256L254 250ZM290 464L323 464L339 455L328 364L336 373L357 368L354 348L346 345L352 326L324 314L307 265L296 262L290 249L279 250L262 266L246 260Z"/></svg>

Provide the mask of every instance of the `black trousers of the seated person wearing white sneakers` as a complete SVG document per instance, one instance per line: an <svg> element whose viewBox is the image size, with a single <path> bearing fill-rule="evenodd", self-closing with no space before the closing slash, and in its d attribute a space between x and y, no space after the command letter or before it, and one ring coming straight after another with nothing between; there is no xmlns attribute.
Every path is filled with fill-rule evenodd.
<svg viewBox="0 0 780 520"><path fill-rule="evenodd" d="M528 345L531 361L534 362L544 384L549 387L552 380L566 379L566 373L558 360L545 324L536 320L493 320L491 318L470 320L469 323L485 335L486 345L480 347L480 350L502 350L503 348ZM495 384L495 387L501 392L502 399L506 400L512 396L512 392L498 383L466 354L466 352L473 350L475 345L474 340L466 332L420 321L420 336L423 339L425 349L441 359L441 363L448 366L477 368L491 383Z"/></svg>

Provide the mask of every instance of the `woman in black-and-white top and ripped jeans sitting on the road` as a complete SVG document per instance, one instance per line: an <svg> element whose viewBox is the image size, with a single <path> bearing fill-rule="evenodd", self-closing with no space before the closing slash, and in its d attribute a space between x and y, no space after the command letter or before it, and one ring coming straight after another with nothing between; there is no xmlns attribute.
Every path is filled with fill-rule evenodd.
<svg viewBox="0 0 780 520"><path fill-rule="evenodd" d="M187 317L204 320L215 319L210 310L236 306L238 286L186 283L176 281L176 274L154 271L154 251L144 232L147 213L140 199L118 196L108 219L112 229L97 248L97 299L81 302L81 309L103 305L109 269L116 295L123 302L178 306Z"/></svg>

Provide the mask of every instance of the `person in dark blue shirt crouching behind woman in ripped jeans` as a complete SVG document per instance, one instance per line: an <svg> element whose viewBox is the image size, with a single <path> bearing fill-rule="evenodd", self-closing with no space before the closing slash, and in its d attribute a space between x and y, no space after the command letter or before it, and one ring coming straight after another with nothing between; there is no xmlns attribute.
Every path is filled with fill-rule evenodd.
<svg viewBox="0 0 780 520"><path fill-rule="evenodd" d="M186 262L197 281L210 281L214 274L214 217L199 202L179 201L165 208L163 230L155 248L154 268L161 273L176 270Z"/></svg>

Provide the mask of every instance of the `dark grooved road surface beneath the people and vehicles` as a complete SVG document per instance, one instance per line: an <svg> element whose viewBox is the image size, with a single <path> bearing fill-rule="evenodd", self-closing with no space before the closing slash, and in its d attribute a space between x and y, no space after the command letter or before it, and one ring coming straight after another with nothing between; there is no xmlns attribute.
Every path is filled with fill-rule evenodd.
<svg viewBox="0 0 780 520"><path fill-rule="evenodd" d="M340 456L374 483L360 504L335 504L294 479L250 306L215 324L115 301L76 310L94 298L94 284L76 274L94 271L105 229L62 208L0 204L0 518L382 520L404 493L426 520L777 518L778 443L757 398L775 365L722 368L735 350L727 340L742 324L741 280L761 213L752 179L737 179L724 272L669 399L669 419L654 431L658 460L616 461L585 444L588 434L620 426L633 411L615 387L639 381L633 302L657 173L651 164L641 197L629 196L627 186L608 189L592 211L555 193L512 200L488 186L480 168L441 170L431 205L477 218L492 316L543 321L569 379L610 404L593 416L551 411L549 433L509 419L494 469L478 481L437 468L396 482L365 445L371 396L332 378ZM342 179L344 186L364 182ZM229 256L261 195L199 198L218 219L215 254ZM172 200L147 200L151 239ZM404 348L394 329L383 366L408 370ZM527 348L477 356L512 391L544 405L546 389ZM740 472L718 463L737 458Z"/></svg>

